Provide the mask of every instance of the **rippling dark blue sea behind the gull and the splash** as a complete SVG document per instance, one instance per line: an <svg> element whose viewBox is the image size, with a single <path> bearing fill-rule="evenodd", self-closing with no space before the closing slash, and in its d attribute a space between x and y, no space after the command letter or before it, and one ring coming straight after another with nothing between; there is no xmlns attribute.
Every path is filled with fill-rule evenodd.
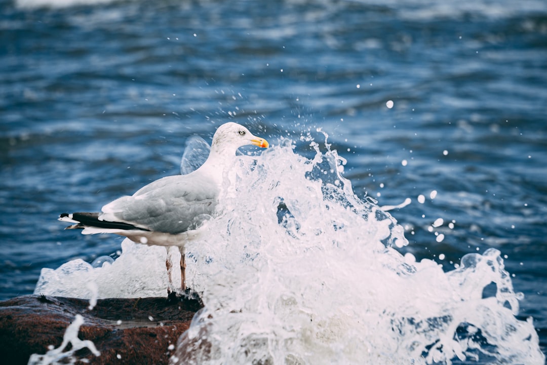
<svg viewBox="0 0 547 365"><path fill-rule="evenodd" d="M116 257L57 216L178 173L189 136L322 128L361 198L412 199L399 251L501 251L547 352L547 3L66 3L0 0L0 299Z"/></svg>

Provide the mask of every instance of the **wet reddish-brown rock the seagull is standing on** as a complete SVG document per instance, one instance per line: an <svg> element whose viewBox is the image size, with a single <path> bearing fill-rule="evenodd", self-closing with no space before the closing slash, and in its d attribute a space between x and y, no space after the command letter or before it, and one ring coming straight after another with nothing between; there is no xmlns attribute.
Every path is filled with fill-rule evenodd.
<svg viewBox="0 0 547 365"><path fill-rule="evenodd" d="M37 295L0 302L2 362L27 364L31 354L59 347L66 328L80 314L85 322L78 337L91 340L101 355L85 348L75 352L76 357L90 364L167 364L202 304L199 299L171 297L99 299L95 308L88 307L84 299Z"/></svg>

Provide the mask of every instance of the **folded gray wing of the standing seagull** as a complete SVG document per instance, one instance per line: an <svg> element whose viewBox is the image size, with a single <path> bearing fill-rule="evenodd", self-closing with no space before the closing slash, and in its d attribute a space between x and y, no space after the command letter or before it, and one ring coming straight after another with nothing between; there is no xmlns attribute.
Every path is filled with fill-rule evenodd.
<svg viewBox="0 0 547 365"><path fill-rule="evenodd" d="M177 234L210 218L217 199L218 187L208 179L168 176L105 205L100 219Z"/></svg>

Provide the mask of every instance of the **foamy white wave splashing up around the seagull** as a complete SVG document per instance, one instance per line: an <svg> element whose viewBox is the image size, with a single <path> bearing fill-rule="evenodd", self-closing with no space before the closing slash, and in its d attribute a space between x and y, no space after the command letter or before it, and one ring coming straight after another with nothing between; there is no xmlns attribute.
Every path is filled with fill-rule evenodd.
<svg viewBox="0 0 547 365"><path fill-rule="evenodd" d="M353 193L344 164L326 136L304 135L224 171L218 215L186 247L205 307L171 363L543 364L501 252L470 252L456 268L401 254L403 228ZM35 292L164 296L165 249L122 250L97 268L43 269Z"/></svg>

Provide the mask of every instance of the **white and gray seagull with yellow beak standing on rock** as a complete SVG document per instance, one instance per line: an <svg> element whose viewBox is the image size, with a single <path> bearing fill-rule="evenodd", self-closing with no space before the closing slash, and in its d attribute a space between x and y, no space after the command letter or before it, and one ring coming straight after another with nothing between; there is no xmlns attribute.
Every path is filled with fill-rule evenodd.
<svg viewBox="0 0 547 365"><path fill-rule="evenodd" d="M253 136L244 126L229 122L220 125L211 143L209 157L187 175L160 178L104 205L101 212L62 213L59 221L73 223L65 229L83 229L82 234L113 233L138 244L164 246L181 252L181 290L185 292L185 251L187 242L203 233L205 223L216 210L223 182L223 171L233 163L236 150L253 144L269 147L264 138ZM174 289L172 265L166 260Z"/></svg>

